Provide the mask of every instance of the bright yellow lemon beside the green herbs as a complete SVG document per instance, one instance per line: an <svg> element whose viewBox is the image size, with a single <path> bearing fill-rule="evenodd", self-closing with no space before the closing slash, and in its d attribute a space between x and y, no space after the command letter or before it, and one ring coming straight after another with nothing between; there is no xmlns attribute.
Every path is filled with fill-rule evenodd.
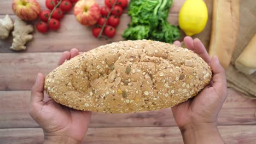
<svg viewBox="0 0 256 144"><path fill-rule="evenodd" d="M208 10L203 0L187 0L179 11L179 27L186 35L202 32L208 19Z"/></svg>

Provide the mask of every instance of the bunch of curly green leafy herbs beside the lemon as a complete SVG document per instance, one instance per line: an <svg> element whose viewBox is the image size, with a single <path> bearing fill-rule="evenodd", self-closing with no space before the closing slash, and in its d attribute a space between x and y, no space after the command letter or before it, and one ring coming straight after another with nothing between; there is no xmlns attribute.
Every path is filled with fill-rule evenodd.
<svg viewBox="0 0 256 144"><path fill-rule="evenodd" d="M176 26L167 21L173 0L131 0L128 14L131 23L123 38L128 40L151 39L173 43L181 37Z"/></svg>

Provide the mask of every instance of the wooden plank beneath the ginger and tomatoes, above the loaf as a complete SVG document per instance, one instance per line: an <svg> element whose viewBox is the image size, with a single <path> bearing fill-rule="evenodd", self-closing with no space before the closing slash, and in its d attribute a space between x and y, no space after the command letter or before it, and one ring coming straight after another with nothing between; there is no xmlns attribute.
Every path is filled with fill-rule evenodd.
<svg viewBox="0 0 256 144"><path fill-rule="evenodd" d="M0 15L2 19L4 15ZM15 20L15 16L11 16ZM72 48L80 51L88 51L98 46L124 40L121 35L130 22L127 14L121 16L121 21L117 27L117 34L112 39L97 39L91 34L91 27L80 25L73 15L66 15L61 22L61 27L57 32L50 31L46 34L39 33L34 29L33 40L26 44L27 50L21 52L63 52ZM178 14L170 14L168 21L173 25L178 25ZM12 36L8 40L0 40L1 52L15 52L9 49L12 43Z"/></svg>

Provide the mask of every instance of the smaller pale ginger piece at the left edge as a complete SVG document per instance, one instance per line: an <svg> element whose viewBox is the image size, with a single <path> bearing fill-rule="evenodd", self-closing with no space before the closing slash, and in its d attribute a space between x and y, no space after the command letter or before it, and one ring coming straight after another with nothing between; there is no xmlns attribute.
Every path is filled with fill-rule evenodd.
<svg viewBox="0 0 256 144"><path fill-rule="evenodd" d="M9 15L5 15L4 19L0 19L0 38L7 39L11 29L13 29L13 21Z"/></svg>

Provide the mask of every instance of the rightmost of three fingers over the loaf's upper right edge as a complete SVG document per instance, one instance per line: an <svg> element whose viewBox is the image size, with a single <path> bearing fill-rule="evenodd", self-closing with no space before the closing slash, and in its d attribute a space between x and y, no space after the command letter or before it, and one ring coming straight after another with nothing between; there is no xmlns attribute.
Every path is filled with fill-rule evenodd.
<svg viewBox="0 0 256 144"><path fill-rule="evenodd" d="M199 55L205 62L210 63L211 58L208 55L208 52L205 49L205 46L203 46L202 42L199 39L194 40L194 51Z"/></svg>

